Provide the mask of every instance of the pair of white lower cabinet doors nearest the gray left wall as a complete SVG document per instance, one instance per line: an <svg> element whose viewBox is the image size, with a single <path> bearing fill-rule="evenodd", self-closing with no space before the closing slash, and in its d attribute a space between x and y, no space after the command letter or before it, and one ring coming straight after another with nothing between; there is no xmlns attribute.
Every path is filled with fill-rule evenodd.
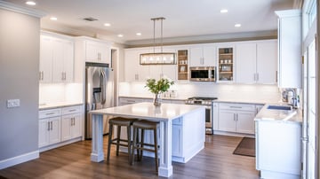
<svg viewBox="0 0 320 179"><path fill-rule="evenodd" d="M60 143L60 117L52 117L39 121L38 146Z"/></svg>

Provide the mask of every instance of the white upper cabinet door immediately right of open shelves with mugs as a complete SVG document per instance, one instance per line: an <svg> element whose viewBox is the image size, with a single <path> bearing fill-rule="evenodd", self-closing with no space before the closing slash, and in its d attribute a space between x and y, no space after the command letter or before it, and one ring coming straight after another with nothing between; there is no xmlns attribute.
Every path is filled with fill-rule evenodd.
<svg viewBox="0 0 320 179"><path fill-rule="evenodd" d="M256 43L236 43L236 82L255 83Z"/></svg>

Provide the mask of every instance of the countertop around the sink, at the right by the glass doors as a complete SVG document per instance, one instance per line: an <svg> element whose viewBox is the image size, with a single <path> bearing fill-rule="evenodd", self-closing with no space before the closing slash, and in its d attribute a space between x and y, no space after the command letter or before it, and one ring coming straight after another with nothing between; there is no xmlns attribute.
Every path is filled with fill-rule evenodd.
<svg viewBox="0 0 320 179"><path fill-rule="evenodd" d="M268 109L268 105L281 105L281 104L267 104L262 107L257 113L254 121L281 121L281 122L302 122L302 112L300 109L274 110Z"/></svg>

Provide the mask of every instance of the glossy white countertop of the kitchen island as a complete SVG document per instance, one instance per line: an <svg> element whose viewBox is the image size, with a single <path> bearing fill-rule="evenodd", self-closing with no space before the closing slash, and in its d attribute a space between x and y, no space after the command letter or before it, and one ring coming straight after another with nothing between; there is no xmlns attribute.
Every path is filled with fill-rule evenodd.
<svg viewBox="0 0 320 179"><path fill-rule="evenodd" d="M128 118L140 118L146 120L166 121L179 118L187 113L204 109L204 105L178 105L162 104L156 107L153 103L137 103L132 105L120 105L100 110L91 111L92 114L109 114Z"/></svg>

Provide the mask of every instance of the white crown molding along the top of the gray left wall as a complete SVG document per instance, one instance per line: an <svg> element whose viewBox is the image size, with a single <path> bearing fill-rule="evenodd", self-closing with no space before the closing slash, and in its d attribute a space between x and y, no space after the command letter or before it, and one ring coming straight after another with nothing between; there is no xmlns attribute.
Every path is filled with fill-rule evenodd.
<svg viewBox="0 0 320 179"><path fill-rule="evenodd" d="M38 10L30 9L30 8L27 8L27 7L22 7L22 6L17 5L17 4L4 2L2 0L0 0L0 8L1 9L5 9L5 10L9 10L9 11L12 11L12 12L20 12L20 13L23 13L23 14L34 16L36 18L42 18L42 17L45 16L45 12L41 12L41 11L38 11Z"/></svg>

